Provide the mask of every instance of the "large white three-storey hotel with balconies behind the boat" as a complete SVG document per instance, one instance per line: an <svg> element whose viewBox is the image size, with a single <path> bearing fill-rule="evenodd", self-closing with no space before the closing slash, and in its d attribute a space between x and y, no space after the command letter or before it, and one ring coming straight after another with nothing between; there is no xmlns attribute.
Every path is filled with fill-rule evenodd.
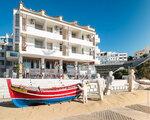
<svg viewBox="0 0 150 120"><path fill-rule="evenodd" d="M27 9L22 3L13 16L15 49L20 53L20 77L28 69L33 76L43 71L45 76L50 76L66 72L67 65L78 69L81 64L95 64L100 38L93 28L66 22L61 16L47 16L44 10Z"/></svg>

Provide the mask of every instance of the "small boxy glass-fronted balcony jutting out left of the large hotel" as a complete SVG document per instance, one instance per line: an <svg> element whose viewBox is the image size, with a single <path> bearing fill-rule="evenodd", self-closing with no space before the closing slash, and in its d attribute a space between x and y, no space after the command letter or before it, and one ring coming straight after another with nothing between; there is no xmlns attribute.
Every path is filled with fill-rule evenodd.
<svg viewBox="0 0 150 120"><path fill-rule="evenodd" d="M19 53L15 51L6 51L6 59L7 60L17 60L19 57Z"/></svg>

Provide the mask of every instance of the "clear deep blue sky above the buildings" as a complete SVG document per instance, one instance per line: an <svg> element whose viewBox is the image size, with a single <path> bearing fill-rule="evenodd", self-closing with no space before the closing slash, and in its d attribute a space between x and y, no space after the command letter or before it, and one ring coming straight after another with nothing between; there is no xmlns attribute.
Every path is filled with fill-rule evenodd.
<svg viewBox="0 0 150 120"><path fill-rule="evenodd" d="M150 0L22 0L27 8L90 25L101 51L127 52L150 46ZM20 0L0 0L0 35L12 33L13 9Z"/></svg>

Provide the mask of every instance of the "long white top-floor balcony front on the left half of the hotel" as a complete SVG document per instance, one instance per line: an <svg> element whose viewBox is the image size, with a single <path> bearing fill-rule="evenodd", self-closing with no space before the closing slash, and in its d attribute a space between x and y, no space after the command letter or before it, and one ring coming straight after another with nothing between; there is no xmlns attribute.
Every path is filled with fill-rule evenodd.
<svg viewBox="0 0 150 120"><path fill-rule="evenodd" d="M31 26L27 26L27 30L23 31L23 33L34 35L34 36L39 36L43 38L49 38L49 39L54 39L54 40L61 40L63 39L62 35L56 34L56 33L51 33L45 30L39 30Z"/></svg>

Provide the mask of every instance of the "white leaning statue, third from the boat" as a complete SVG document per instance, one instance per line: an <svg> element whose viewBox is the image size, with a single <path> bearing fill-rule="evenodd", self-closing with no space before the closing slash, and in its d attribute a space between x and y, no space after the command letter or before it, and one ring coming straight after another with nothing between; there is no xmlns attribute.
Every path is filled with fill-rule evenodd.
<svg viewBox="0 0 150 120"><path fill-rule="evenodd" d="M110 91L111 91L111 86L112 86L112 82L114 81L114 76L113 76L113 72L110 71L109 72L109 76L107 77L107 81L106 81L106 88L104 91L105 95L110 95Z"/></svg>

